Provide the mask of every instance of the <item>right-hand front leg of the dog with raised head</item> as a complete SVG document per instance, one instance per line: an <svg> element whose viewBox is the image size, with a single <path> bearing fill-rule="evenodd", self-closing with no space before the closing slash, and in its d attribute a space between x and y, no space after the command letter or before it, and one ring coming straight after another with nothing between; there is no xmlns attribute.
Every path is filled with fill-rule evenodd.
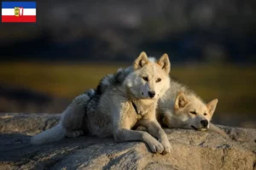
<svg viewBox="0 0 256 170"><path fill-rule="evenodd" d="M161 144L163 144L165 148L165 152L170 153L171 152L171 144L169 142L169 139L167 138L167 135L165 131L160 127L159 122L157 120L150 120L150 119L143 119L139 122L140 125L143 127L148 128L148 133L153 135L155 138L157 138Z"/></svg>

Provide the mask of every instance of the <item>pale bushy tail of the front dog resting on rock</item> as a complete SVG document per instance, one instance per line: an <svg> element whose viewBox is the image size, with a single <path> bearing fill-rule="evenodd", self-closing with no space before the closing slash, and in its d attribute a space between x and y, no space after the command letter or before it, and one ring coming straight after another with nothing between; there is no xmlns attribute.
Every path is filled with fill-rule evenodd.
<svg viewBox="0 0 256 170"><path fill-rule="evenodd" d="M57 140L64 139L66 136L66 129L61 125L61 122L55 127L52 127L42 133L32 137L32 144L44 144Z"/></svg>

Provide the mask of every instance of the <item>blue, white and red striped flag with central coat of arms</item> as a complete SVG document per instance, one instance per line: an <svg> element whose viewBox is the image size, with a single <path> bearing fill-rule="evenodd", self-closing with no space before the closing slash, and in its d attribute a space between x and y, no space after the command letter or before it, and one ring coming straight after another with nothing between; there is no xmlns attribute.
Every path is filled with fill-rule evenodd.
<svg viewBox="0 0 256 170"><path fill-rule="evenodd" d="M36 22L36 2L2 2L2 22Z"/></svg>

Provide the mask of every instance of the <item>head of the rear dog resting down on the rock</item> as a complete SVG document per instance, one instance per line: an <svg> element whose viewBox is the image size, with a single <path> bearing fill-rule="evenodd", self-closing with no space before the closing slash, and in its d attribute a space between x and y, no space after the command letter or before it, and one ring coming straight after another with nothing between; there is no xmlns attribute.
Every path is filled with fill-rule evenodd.
<svg viewBox="0 0 256 170"><path fill-rule="evenodd" d="M204 104L195 95L185 95L183 92L177 94L174 104L174 112L177 117L185 122L185 128L195 130L206 130L216 109L218 99L213 99L208 104Z"/></svg>

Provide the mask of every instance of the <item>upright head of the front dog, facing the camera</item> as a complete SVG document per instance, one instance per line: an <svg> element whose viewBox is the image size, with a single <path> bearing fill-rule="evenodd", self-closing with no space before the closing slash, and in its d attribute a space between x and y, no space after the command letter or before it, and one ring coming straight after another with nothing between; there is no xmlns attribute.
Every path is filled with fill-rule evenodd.
<svg viewBox="0 0 256 170"><path fill-rule="evenodd" d="M133 72L126 77L131 94L139 99L159 99L169 88L171 64L167 54L158 61L142 52L133 64Z"/></svg>

